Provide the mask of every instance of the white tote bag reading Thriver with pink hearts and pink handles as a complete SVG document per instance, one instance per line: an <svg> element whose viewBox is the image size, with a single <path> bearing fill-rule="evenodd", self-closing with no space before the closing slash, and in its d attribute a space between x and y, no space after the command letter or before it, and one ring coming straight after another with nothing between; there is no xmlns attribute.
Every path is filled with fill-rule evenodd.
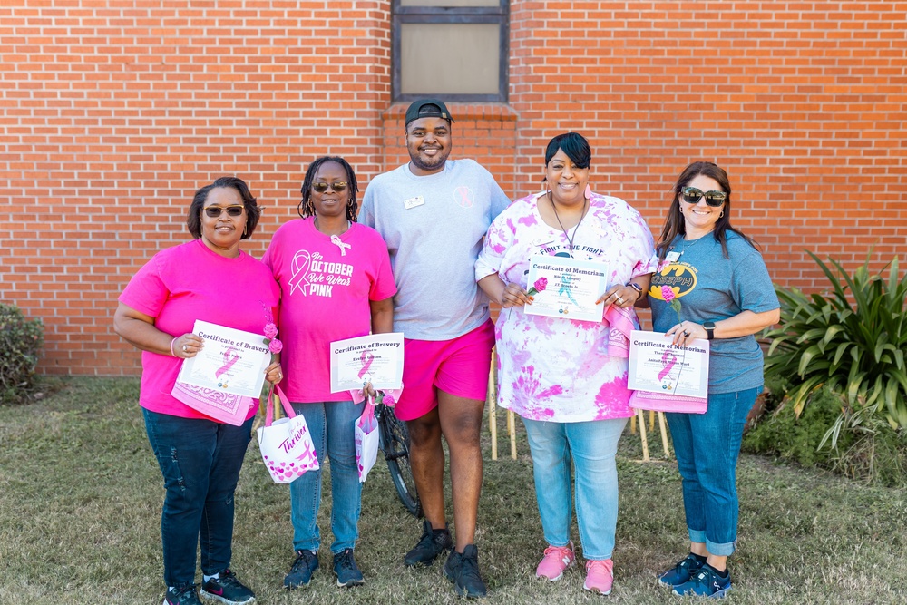
<svg viewBox="0 0 907 605"><path fill-rule="evenodd" d="M274 420L275 399L280 400L287 417ZM268 393L265 424L258 427L258 449L274 483L292 483L307 471L318 468L318 456L306 418L296 415L278 385L271 386Z"/></svg>

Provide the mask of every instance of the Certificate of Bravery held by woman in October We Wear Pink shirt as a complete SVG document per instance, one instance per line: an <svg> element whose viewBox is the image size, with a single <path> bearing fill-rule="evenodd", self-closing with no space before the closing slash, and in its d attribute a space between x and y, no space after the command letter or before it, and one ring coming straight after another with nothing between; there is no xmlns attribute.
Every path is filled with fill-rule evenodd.
<svg viewBox="0 0 907 605"><path fill-rule="evenodd" d="M331 343L331 393L403 386L403 332L346 338Z"/></svg>

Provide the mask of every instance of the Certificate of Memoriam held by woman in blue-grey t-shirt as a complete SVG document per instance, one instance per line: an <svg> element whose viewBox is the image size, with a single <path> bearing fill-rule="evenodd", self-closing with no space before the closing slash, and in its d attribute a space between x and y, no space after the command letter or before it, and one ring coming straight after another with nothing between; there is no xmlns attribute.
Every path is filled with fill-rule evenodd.
<svg viewBox="0 0 907 605"><path fill-rule="evenodd" d="M627 387L665 395L708 396L708 341L674 346L661 332L633 330Z"/></svg>

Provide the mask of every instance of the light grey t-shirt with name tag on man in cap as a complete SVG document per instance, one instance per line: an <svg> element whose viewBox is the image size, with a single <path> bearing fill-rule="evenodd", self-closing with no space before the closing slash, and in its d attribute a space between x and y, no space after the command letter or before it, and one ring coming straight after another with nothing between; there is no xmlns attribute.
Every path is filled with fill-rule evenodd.
<svg viewBox="0 0 907 605"><path fill-rule="evenodd" d="M475 284L475 260L492 220L510 199L473 160L416 176L406 163L368 183L359 221L387 243L397 293L394 331L418 340L451 340L489 317Z"/></svg>

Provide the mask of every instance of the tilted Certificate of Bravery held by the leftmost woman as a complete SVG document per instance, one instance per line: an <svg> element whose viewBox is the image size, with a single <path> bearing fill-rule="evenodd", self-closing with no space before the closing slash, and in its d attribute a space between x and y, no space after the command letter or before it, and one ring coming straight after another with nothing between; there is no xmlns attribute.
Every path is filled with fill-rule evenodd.
<svg viewBox="0 0 907 605"><path fill-rule="evenodd" d="M231 395L261 395L265 368L271 362L264 335L200 320L192 332L204 338L205 346L183 360L178 381Z"/></svg>

